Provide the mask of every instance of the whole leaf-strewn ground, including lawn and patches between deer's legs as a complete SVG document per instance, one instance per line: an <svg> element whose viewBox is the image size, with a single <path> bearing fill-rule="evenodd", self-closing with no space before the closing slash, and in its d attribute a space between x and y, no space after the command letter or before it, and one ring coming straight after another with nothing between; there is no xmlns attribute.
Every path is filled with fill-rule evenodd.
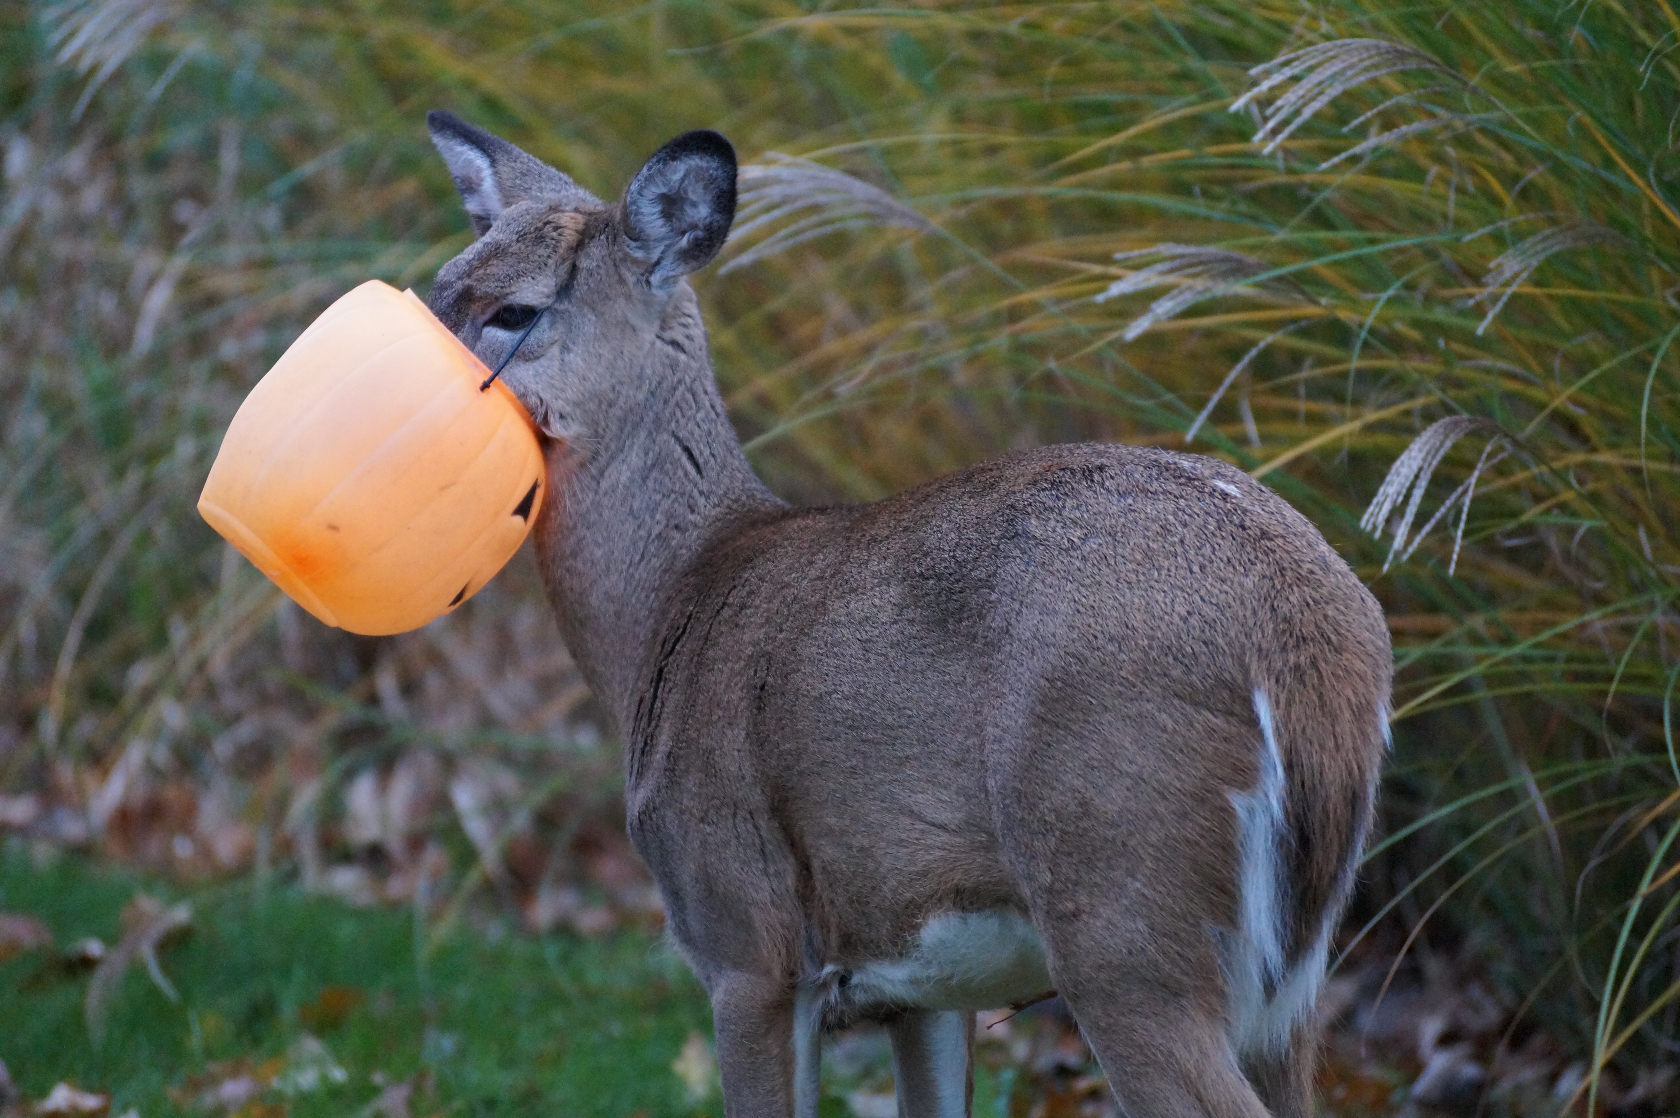
<svg viewBox="0 0 1680 1118"><path fill-rule="evenodd" d="M721 1118L699 984L647 925L601 927L422 917L257 875L181 885L8 839L0 1118ZM1326 1113L1416 1113L1431 1091L1446 1113L1539 1113L1556 1053L1488 1058L1505 1016L1462 972L1388 977L1356 959L1327 987ZM1116 1115L1058 1002L984 1014L978 1064L976 1118ZM1539 1069L1541 1098L1483 1091L1483 1064L1512 1083ZM879 1029L828 1044L822 1108L895 1115Z"/></svg>

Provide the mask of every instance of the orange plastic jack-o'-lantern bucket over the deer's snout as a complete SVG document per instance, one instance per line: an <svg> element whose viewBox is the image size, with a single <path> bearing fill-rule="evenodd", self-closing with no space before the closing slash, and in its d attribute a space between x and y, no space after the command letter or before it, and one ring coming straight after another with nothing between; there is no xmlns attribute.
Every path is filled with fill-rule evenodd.
<svg viewBox="0 0 1680 1118"><path fill-rule="evenodd" d="M326 624L417 630L502 569L543 504L529 413L413 292L328 307L227 428L198 512Z"/></svg>

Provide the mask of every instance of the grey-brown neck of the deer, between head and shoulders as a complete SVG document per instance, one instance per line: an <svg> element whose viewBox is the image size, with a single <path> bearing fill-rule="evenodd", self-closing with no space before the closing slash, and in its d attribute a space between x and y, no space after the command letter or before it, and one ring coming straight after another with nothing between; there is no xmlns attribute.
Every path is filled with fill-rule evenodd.
<svg viewBox="0 0 1680 1118"><path fill-rule="evenodd" d="M573 660L630 729L643 658L672 591L743 517L781 507L746 460L682 290L588 445L549 443L538 562Z"/></svg>

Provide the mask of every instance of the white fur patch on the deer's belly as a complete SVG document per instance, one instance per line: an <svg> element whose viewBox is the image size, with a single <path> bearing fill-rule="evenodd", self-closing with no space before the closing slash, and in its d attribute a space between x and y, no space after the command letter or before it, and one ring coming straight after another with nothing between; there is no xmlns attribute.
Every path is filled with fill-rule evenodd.
<svg viewBox="0 0 1680 1118"><path fill-rule="evenodd" d="M909 955L850 970L838 997L857 1006L1001 1009L1052 989L1043 942L1026 917L946 912L922 925Z"/></svg>

